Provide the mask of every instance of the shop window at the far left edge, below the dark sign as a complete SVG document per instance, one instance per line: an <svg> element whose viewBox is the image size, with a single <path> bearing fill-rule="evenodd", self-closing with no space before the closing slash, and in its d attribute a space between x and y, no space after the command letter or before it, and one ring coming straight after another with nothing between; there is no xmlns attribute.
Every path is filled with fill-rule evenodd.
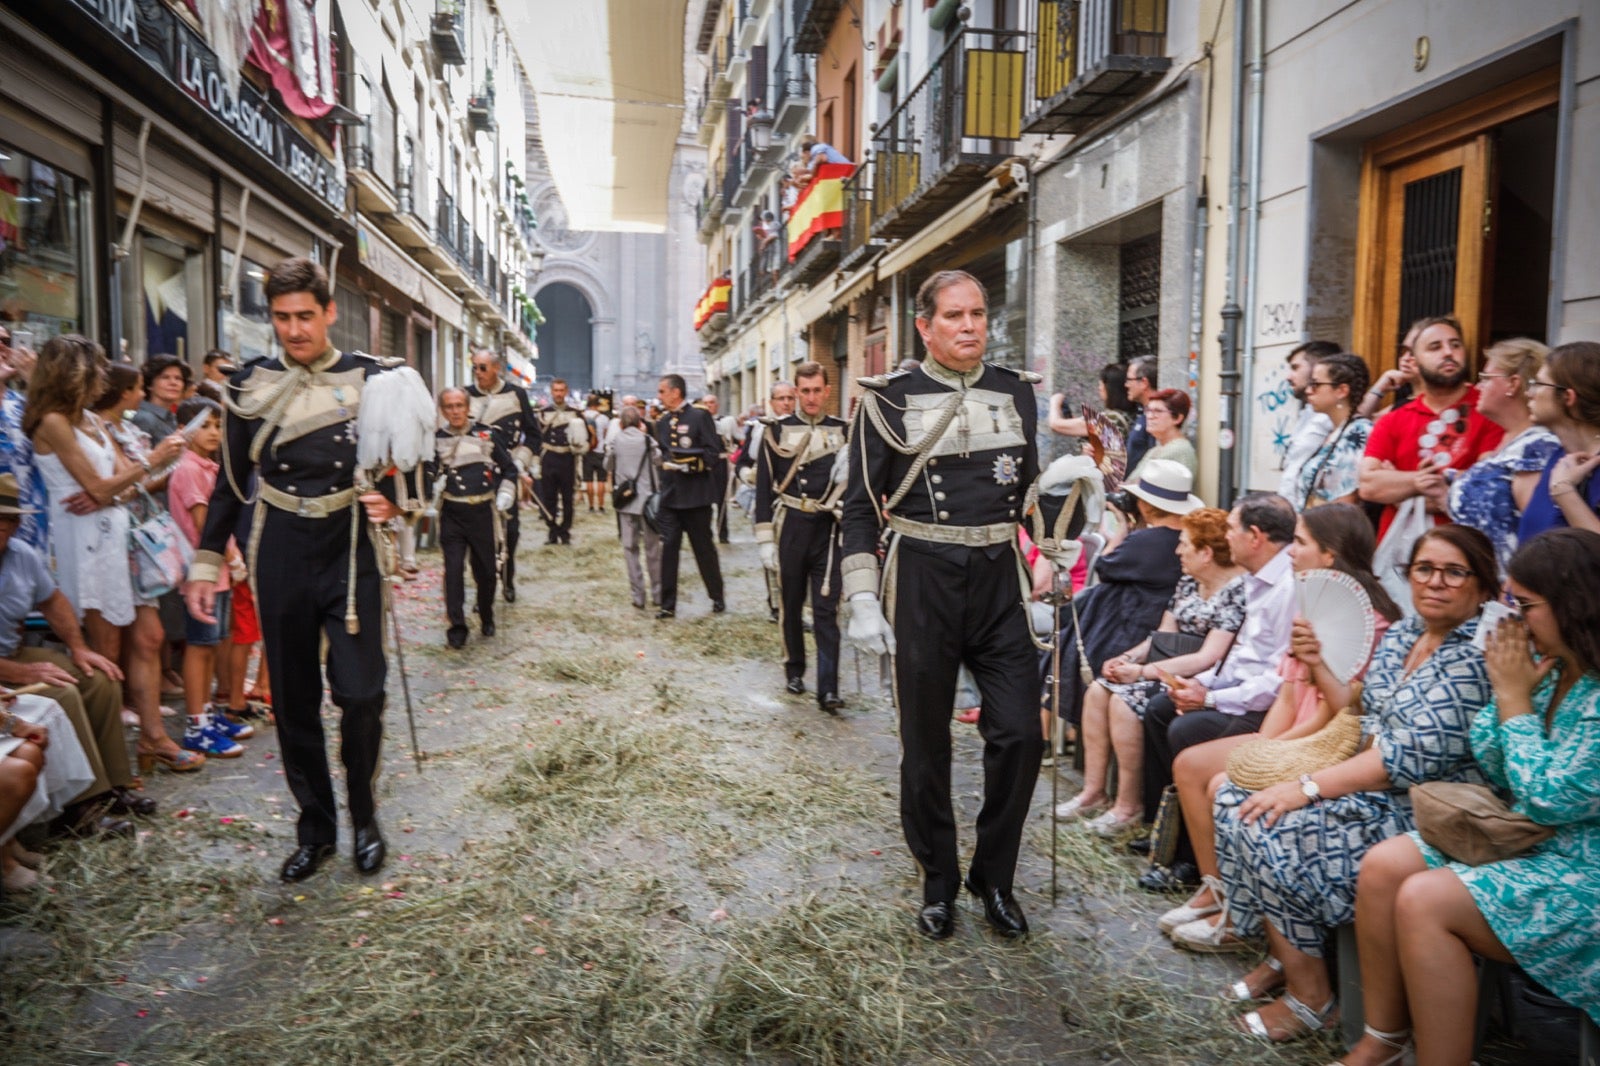
<svg viewBox="0 0 1600 1066"><path fill-rule="evenodd" d="M0 319L34 347L90 317L88 197L88 182L0 144Z"/></svg>

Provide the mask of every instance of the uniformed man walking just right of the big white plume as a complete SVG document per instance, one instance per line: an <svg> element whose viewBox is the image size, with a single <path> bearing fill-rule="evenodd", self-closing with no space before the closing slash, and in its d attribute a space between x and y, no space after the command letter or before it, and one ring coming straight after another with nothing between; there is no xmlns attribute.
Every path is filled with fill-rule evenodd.
<svg viewBox="0 0 1600 1066"><path fill-rule="evenodd" d="M517 504L517 464L499 434L472 421L466 389L438 394L445 426L435 434L435 458L427 480L438 503L438 546L445 552L445 616L451 648L467 643L466 563L478 589L478 624L494 635L494 555L506 541L501 515ZM499 512L499 514L496 514ZM507 549L509 551L509 549Z"/></svg>

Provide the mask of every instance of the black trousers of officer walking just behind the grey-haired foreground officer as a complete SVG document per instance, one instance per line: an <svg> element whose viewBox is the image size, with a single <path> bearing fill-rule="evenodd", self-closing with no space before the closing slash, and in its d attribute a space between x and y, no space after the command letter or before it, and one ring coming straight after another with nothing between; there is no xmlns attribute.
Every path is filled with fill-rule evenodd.
<svg viewBox="0 0 1600 1066"><path fill-rule="evenodd" d="M784 511L778 536L779 621L784 677L805 677L806 594L816 635L816 691L838 693L838 523L832 514ZM827 584L827 594L822 584Z"/></svg>

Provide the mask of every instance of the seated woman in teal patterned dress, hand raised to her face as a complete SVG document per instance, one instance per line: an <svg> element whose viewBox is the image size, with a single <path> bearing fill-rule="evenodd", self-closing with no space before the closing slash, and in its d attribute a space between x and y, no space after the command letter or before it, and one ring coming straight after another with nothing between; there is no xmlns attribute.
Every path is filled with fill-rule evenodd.
<svg viewBox="0 0 1600 1066"><path fill-rule="evenodd" d="M1554 530L1512 557L1522 621L1490 634L1494 701L1472 751L1512 810L1555 829L1501 863L1454 863L1418 834L1362 863L1355 935L1366 1036L1346 1063L1398 1063L1416 1024L1419 1063L1472 1056L1472 954L1515 962L1600 1021L1600 533ZM1528 653L1533 643L1539 659ZM1411 1010L1406 997L1410 994ZM1408 1016L1410 1015L1410 1016Z"/></svg>

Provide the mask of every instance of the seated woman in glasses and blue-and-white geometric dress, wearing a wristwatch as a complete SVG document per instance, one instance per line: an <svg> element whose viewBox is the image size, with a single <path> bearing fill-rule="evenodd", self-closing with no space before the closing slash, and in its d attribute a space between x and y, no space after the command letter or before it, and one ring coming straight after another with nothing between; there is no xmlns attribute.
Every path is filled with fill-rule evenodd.
<svg viewBox="0 0 1600 1066"><path fill-rule="evenodd" d="M1259 792L1227 783L1216 794L1229 919L1240 938L1266 927L1283 968L1283 996L1237 1020L1251 1036L1294 1040L1330 1023L1325 940L1355 917L1362 856L1413 828L1413 784L1483 779L1467 728L1490 701L1472 637L1498 589L1494 549L1477 530L1435 527L1413 546L1406 576L1416 615L1389 627L1366 669L1362 733L1373 744L1299 781ZM1270 983L1269 970L1264 962L1245 983Z"/></svg>

